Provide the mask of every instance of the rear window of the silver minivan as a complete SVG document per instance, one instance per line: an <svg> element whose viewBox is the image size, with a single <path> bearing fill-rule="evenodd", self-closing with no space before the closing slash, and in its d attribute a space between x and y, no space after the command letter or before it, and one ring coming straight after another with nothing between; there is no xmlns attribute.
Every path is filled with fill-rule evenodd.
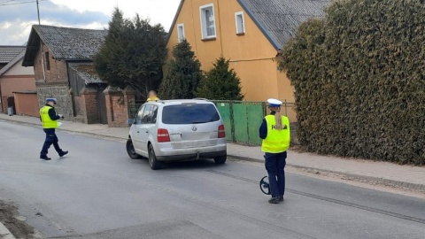
<svg viewBox="0 0 425 239"><path fill-rule="evenodd" d="M213 104L175 104L162 110L162 122L169 125L202 124L220 120Z"/></svg>

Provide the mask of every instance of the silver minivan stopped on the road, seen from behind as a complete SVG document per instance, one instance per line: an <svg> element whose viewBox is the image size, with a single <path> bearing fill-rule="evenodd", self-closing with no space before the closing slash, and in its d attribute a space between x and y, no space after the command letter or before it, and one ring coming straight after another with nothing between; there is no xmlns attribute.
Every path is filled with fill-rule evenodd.
<svg viewBox="0 0 425 239"><path fill-rule="evenodd" d="M128 156L149 158L151 169L161 168L165 161L213 158L217 164L226 162L224 124L210 101L148 102L128 123Z"/></svg>

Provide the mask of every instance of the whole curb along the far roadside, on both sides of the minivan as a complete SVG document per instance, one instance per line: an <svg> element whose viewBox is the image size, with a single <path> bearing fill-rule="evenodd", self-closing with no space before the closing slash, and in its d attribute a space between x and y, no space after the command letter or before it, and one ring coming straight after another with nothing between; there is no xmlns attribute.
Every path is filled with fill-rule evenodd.
<svg viewBox="0 0 425 239"><path fill-rule="evenodd" d="M13 119L0 119L0 120L7 120L7 121L12 121L12 122L22 123L22 124L25 124L25 125L41 127L39 124L35 124L35 123L31 123L31 122L23 122L23 121L13 120ZM97 136L97 137L101 136L101 137L104 137L104 138L115 139L115 140L120 140L120 141L121 140L127 140L127 138L123 138L123 137L111 136L111 135L102 135L102 134L96 134L96 133L79 132L79 131L75 131L75 130L72 130L72 129L60 128L58 130L71 132L71 133L78 133L78 134L81 134L81 135L92 135L92 136ZM249 161L249 162L255 162L255 163L264 163L264 160L258 159L258 158L247 158L247 157L233 155L233 154L228 154L228 157L236 158L236 159L243 160L243 161ZM342 173L342 172L338 172L338 171L327 170L327 169L319 169L319 168L314 168L314 167L309 167L309 166L297 166L297 165L293 165L293 164L287 164L287 166L291 166L291 167L294 167L294 168L297 168L297 169L305 170L307 173L316 173L316 174L332 173L332 174L341 176L345 180L367 182L367 183L372 183L372 184L376 184L376 185L390 186L390 187L395 187L395 188L400 188L400 189L418 190L418 191L425 192L425 184L417 184L417 183L406 182L406 181L390 180L390 179L360 175L360 174L355 174L355 173Z"/></svg>

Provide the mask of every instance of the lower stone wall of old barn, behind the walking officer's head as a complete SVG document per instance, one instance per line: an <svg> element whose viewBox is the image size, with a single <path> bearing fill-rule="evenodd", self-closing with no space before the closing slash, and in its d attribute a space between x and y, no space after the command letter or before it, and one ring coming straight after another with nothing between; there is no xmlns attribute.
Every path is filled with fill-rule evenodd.
<svg viewBox="0 0 425 239"><path fill-rule="evenodd" d="M65 120L73 119L73 99L69 93L67 85L49 86L46 84L37 84L38 104L40 107L46 104L46 98L57 98L58 104L55 106L56 111L63 114Z"/></svg>

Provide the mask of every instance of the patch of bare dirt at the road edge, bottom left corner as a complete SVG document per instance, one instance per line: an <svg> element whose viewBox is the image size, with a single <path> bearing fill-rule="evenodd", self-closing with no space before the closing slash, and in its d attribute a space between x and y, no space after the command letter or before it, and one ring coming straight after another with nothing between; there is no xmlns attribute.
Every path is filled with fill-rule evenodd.
<svg viewBox="0 0 425 239"><path fill-rule="evenodd" d="M19 216L18 208L8 202L0 201L0 221L16 238L31 239L35 229L26 223L26 218Z"/></svg>

